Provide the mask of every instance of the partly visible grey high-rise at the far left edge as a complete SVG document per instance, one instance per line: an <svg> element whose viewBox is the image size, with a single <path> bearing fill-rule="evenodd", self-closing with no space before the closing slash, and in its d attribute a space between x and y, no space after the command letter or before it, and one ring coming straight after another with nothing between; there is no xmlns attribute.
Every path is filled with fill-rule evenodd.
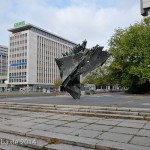
<svg viewBox="0 0 150 150"><path fill-rule="evenodd" d="M6 87L8 72L8 47L0 45L0 91Z"/></svg>

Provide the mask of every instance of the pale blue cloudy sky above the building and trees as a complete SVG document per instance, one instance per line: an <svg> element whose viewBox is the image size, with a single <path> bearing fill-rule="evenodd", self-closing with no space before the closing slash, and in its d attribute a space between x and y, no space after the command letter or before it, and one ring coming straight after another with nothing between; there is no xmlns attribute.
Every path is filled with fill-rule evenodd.
<svg viewBox="0 0 150 150"><path fill-rule="evenodd" d="M0 45L25 21L75 43L105 46L118 27L139 22L140 0L0 0Z"/></svg>

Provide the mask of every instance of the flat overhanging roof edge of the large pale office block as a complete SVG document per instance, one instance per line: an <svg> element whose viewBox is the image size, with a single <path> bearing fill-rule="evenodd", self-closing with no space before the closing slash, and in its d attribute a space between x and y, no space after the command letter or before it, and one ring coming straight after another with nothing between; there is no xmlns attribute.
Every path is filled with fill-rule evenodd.
<svg viewBox="0 0 150 150"><path fill-rule="evenodd" d="M72 41L70 41L70 40L67 40L67 39L65 39L65 38L63 38L63 37L61 37L61 36L58 36L58 35L54 34L54 33L51 33L51 32L49 32L49 31L46 31L46 30L44 30L44 29L42 29L42 28L39 28L39 27L37 27L37 26L34 26L34 25L30 24L30 23L29 23L29 24L25 24L25 25L20 26L20 27L10 28L10 29L8 29L8 31L10 31L10 32L12 32L12 33L17 33L17 32L21 32L21 31L25 31L25 30L30 30L31 28L36 28L36 29L38 29L38 30L40 30L40 31L46 32L46 33L51 34L51 35L53 35L53 36L55 36L55 37L57 37L57 38L60 38L60 39L62 39L62 40L65 40L65 41L68 41L68 42L70 42L70 43L72 43L72 44L77 45L76 43L74 43L74 42L72 42Z"/></svg>

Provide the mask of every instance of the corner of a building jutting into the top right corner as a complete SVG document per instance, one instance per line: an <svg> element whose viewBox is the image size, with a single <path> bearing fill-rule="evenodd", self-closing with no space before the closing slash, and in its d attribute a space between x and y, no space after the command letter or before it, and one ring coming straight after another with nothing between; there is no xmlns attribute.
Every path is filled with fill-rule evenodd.
<svg viewBox="0 0 150 150"><path fill-rule="evenodd" d="M141 0L141 15L150 16L150 0Z"/></svg>

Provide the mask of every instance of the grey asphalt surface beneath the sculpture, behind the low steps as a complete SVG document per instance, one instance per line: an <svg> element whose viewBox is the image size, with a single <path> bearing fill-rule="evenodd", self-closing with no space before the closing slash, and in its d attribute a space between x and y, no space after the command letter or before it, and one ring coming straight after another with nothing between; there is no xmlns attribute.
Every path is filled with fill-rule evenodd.
<svg viewBox="0 0 150 150"><path fill-rule="evenodd" d="M105 93L82 95L79 100L74 100L71 96L0 97L0 102L150 108L150 95Z"/></svg>

